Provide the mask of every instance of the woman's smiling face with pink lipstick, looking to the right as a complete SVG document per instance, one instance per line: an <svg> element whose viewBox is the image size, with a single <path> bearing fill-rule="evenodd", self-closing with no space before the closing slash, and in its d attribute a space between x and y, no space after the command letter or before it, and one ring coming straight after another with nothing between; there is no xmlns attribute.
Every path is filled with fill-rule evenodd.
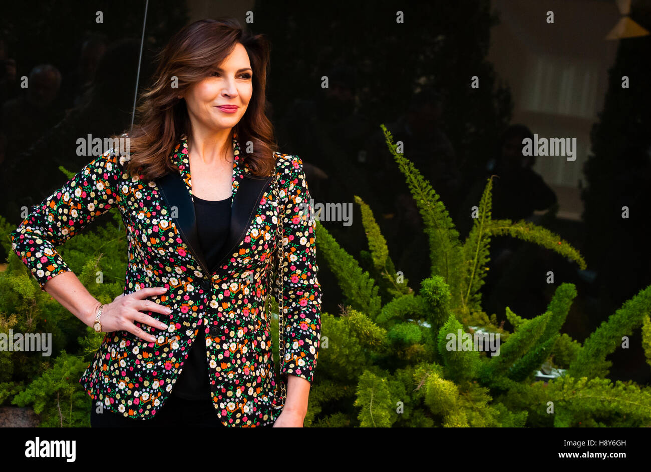
<svg viewBox="0 0 651 472"><path fill-rule="evenodd" d="M200 126L217 131L235 126L249 106L253 94L252 77L249 55L238 43L219 68L215 66L215 72L182 94L193 128ZM222 105L230 105L234 111L229 113L218 108Z"/></svg>

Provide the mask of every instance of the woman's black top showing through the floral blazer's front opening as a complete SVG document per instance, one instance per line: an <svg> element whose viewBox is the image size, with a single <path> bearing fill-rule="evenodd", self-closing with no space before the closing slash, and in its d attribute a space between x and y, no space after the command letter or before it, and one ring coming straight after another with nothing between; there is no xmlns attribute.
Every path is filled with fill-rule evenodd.
<svg viewBox="0 0 651 472"><path fill-rule="evenodd" d="M193 196L197 231L201 250L206 256L208 268L214 270L219 263L219 255L229 236L230 199L208 201ZM204 318L205 323L205 318ZM199 327L197 339L190 347L190 354L183 364L183 372L174 384L172 394L187 400L212 400L208 385L208 359L206 358L205 326Z"/></svg>

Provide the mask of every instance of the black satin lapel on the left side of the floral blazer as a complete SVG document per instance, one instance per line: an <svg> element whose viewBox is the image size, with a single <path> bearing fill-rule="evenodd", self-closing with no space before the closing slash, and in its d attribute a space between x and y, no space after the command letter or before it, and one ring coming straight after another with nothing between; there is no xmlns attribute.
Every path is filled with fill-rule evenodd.
<svg viewBox="0 0 651 472"><path fill-rule="evenodd" d="M212 272L208 270L208 263L206 262L204 253L201 251L201 243L199 243L195 206L187 191L183 178L179 173L169 173L156 180L156 184L169 210L172 212L173 207L176 206L177 217L173 219L181 233L181 238L183 238L192 255L197 259L199 265L201 265L206 277L210 277ZM173 213L170 215L173 215Z"/></svg>

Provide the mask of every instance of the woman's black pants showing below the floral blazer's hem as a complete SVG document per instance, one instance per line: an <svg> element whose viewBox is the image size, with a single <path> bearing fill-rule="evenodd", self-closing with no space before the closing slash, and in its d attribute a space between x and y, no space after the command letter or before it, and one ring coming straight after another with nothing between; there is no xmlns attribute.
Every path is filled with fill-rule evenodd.
<svg viewBox="0 0 651 472"><path fill-rule="evenodd" d="M107 408L97 413L96 400L90 402L90 426L92 428L158 428L165 426L191 426L199 428L226 428L212 405L212 400L186 400L171 395L154 417L131 419L113 413ZM271 428L268 426L258 426Z"/></svg>

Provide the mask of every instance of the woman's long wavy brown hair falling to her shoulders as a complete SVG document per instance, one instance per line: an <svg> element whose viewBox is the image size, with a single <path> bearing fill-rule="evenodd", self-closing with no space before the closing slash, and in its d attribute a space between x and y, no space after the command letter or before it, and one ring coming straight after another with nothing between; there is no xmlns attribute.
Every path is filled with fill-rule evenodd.
<svg viewBox="0 0 651 472"><path fill-rule="evenodd" d="M237 43L242 44L249 55L253 69L253 94L232 132L237 133L242 163L247 163L256 176L272 174L275 169L273 153L278 150L278 145L273 125L265 113L270 44L265 36L253 35L243 29L238 20L223 17L187 25L159 52L152 85L141 94L141 104L137 107L141 117L139 124L127 133L131 157L125 169L130 175L140 174L148 181L178 171L167 158L182 134L192 135L186 101L178 95L208 77ZM178 88L171 86L173 77L178 79ZM111 139L119 137L115 135ZM247 141L253 142L251 154L243 151Z"/></svg>

